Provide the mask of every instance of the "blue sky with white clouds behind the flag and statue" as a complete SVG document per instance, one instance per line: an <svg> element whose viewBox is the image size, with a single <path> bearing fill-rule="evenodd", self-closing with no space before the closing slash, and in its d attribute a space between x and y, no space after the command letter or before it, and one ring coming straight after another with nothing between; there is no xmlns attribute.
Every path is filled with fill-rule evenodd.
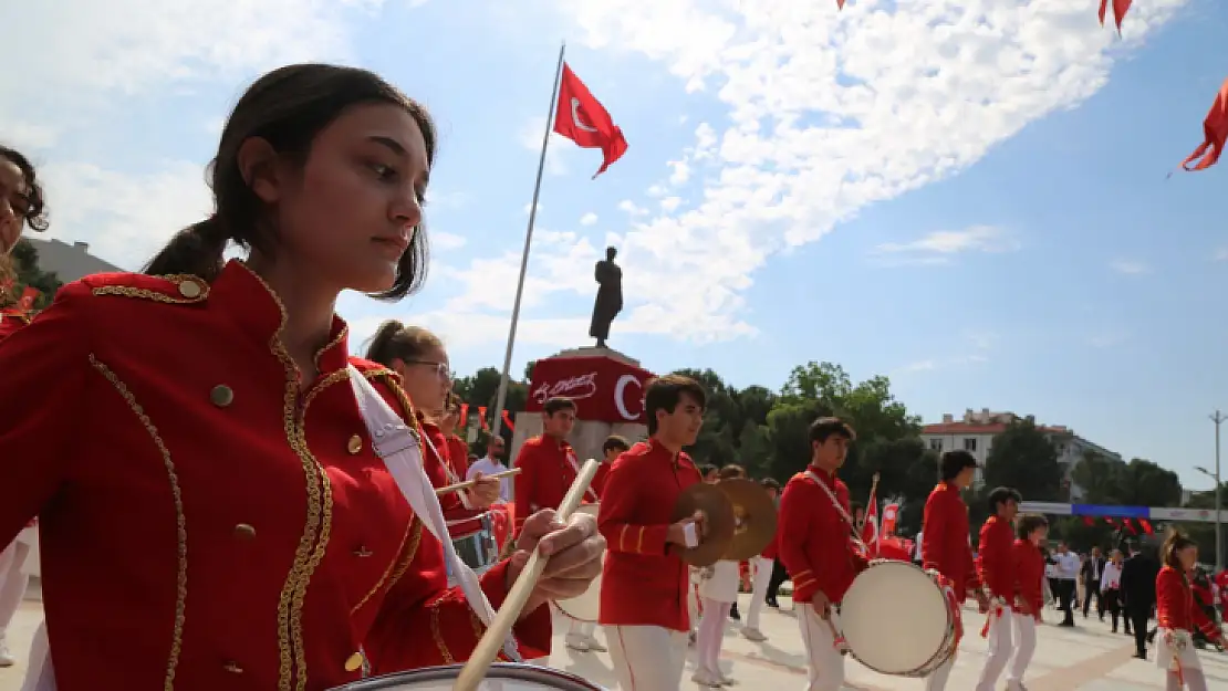
<svg viewBox="0 0 1228 691"><path fill-rule="evenodd" d="M610 345L779 389L807 361L890 377L925 421L1035 415L1211 481L1228 410L1228 163L1167 176L1224 77L1222 0L54 0L5 10L0 140L52 237L138 269L211 210L230 107L295 61L372 69L441 128L426 288L345 295L500 366L559 48L630 144L551 137L512 372ZM1228 468L1226 468L1228 474Z"/></svg>

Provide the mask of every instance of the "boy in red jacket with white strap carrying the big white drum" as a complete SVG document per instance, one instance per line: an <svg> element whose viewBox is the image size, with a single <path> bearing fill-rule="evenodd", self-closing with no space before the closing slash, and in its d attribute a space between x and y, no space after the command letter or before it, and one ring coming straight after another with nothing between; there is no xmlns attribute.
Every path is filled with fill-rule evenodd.
<svg viewBox="0 0 1228 691"><path fill-rule="evenodd" d="M837 615L852 579L866 568L853 542L849 487L836 477L856 434L839 417L810 423L810 464L780 500L780 557L793 577L793 603L809 666L808 691L837 691L844 655L836 648Z"/></svg>

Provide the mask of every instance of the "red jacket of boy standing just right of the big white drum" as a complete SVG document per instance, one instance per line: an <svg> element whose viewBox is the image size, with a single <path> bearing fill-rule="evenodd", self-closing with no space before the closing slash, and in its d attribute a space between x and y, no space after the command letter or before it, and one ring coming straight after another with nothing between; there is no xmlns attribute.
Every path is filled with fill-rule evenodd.
<svg viewBox="0 0 1228 691"><path fill-rule="evenodd" d="M968 504L958 487L942 482L930 492L921 530L922 566L947 577L955 598L963 603L968 590L979 585L979 579L969 541Z"/></svg>

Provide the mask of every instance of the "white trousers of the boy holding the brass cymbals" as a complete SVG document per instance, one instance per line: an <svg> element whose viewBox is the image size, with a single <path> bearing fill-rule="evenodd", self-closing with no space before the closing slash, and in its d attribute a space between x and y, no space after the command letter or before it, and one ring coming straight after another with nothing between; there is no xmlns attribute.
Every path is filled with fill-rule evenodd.
<svg viewBox="0 0 1228 691"><path fill-rule="evenodd" d="M621 691L678 691L686 632L663 626L603 626Z"/></svg>

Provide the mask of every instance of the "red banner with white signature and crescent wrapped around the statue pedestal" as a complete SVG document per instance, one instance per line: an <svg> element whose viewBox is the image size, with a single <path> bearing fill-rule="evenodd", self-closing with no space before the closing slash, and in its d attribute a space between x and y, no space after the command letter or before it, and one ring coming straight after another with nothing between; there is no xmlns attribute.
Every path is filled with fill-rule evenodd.
<svg viewBox="0 0 1228 691"><path fill-rule="evenodd" d="M533 365L524 409L539 412L546 399L576 401L576 417L600 422L646 422L643 387L652 372L613 357L551 357Z"/></svg>

